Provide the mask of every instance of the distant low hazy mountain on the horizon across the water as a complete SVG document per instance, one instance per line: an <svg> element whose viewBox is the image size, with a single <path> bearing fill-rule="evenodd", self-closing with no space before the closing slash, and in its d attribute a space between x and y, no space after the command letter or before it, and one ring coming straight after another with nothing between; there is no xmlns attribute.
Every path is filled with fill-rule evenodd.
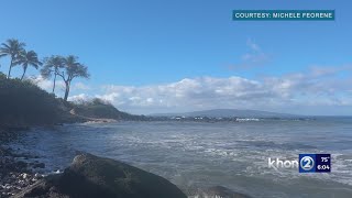
<svg viewBox="0 0 352 198"><path fill-rule="evenodd" d="M298 116L257 110L212 109L183 113L156 113L152 117L209 117L209 118L295 118Z"/></svg>

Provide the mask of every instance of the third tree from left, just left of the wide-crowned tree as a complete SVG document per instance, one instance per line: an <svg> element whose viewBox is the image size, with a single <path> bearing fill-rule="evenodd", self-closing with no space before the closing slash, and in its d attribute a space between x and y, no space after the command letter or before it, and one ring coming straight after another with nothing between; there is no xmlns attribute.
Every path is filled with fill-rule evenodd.
<svg viewBox="0 0 352 198"><path fill-rule="evenodd" d="M41 74L44 78L48 79L54 75L53 92L56 87L56 77L61 68L64 68L65 58L62 56L51 56L44 58L44 67L41 69Z"/></svg>

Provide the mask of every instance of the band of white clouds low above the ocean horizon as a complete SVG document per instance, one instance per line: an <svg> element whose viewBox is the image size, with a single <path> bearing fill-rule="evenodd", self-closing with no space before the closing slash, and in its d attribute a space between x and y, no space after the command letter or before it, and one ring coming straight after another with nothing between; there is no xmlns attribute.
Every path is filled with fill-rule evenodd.
<svg viewBox="0 0 352 198"><path fill-rule="evenodd" d="M349 114L352 110L351 72L351 65L314 66L305 73L260 79L206 76L146 86L89 86L76 82L69 100L98 97L121 110L145 114L216 108L299 114ZM51 87L50 81L40 77L38 81L44 89Z"/></svg>

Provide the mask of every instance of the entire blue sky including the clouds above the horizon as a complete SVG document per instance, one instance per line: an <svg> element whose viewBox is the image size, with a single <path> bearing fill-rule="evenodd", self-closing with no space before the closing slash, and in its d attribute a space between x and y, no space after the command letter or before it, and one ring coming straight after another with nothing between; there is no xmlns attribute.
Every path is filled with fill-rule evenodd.
<svg viewBox="0 0 352 198"><path fill-rule="evenodd" d="M343 0L11 0L1 3L6 20L0 42L19 38L41 57L79 56L91 78L76 80L72 96L98 96L134 113L254 108L351 114L352 91L345 85L351 82L350 8L352 2ZM333 9L337 19L234 22L234 9ZM6 72L7 59L0 63ZM18 67L13 75L20 72ZM31 69L29 75L37 72ZM216 88L208 78L224 81ZM261 86L245 87L245 80ZM189 90L189 84L197 86ZM274 90L277 86L284 88ZM239 94L248 89L255 95ZM258 90L265 94L258 96ZM261 105L253 97L267 101ZM316 98L321 101L311 103Z"/></svg>

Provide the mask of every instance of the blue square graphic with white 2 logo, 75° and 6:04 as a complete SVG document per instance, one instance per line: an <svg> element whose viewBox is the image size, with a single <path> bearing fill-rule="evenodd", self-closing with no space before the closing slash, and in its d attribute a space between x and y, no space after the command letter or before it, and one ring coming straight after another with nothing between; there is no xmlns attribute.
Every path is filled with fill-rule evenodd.
<svg viewBox="0 0 352 198"><path fill-rule="evenodd" d="M330 154L299 154L299 173L330 173Z"/></svg>

